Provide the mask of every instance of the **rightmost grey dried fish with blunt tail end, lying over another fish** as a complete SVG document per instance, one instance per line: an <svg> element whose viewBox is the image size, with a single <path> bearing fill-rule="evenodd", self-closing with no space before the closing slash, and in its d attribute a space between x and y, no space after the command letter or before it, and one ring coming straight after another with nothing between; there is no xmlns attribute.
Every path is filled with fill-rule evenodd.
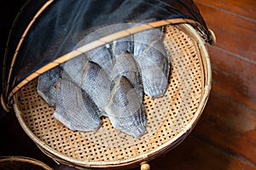
<svg viewBox="0 0 256 170"><path fill-rule="evenodd" d="M170 60L163 42L151 42L135 59L142 72L145 94L150 98L163 96L170 71Z"/></svg>

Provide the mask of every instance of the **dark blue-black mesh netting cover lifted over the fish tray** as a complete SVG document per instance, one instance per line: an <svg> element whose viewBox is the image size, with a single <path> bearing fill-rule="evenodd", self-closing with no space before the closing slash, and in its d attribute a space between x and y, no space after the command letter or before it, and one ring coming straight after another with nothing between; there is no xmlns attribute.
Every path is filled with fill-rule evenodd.
<svg viewBox="0 0 256 170"><path fill-rule="evenodd" d="M125 23L148 24L153 19L171 23L189 23L207 42L211 36L192 0L140 1L32 1L20 9L9 35L3 60L3 97L11 99L15 92L34 77L60 65L60 59L92 31ZM146 20L146 21L145 21ZM88 42L94 42L130 25L105 31ZM84 52L82 52L84 53ZM52 62L54 64L49 65ZM44 69L43 69L44 68ZM41 70L40 70L41 69ZM36 75L32 75L36 73Z"/></svg>

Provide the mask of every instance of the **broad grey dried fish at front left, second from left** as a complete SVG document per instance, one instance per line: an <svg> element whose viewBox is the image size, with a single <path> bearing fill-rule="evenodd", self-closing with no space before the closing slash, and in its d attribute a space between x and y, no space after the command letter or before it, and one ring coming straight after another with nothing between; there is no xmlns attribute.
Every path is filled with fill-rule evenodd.
<svg viewBox="0 0 256 170"><path fill-rule="evenodd" d="M54 115L71 130L96 131L101 125L100 111L90 96L73 82L60 78Z"/></svg>

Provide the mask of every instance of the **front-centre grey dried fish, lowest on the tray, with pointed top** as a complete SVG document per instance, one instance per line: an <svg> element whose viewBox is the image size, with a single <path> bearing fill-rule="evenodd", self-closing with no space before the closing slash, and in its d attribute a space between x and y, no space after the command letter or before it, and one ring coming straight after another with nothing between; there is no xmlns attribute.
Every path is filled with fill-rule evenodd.
<svg viewBox="0 0 256 170"><path fill-rule="evenodd" d="M138 98L136 89L124 76L115 82L109 103L105 107L113 127L123 133L139 138L146 133L143 124L142 101Z"/></svg>

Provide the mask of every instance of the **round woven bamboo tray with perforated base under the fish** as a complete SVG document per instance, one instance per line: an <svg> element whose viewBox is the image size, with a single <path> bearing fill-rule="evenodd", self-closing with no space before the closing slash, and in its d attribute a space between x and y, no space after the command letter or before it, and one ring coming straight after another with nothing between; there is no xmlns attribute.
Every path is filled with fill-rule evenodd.
<svg viewBox="0 0 256 170"><path fill-rule="evenodd" d="M148 133L140 139L116 131L108 118L103 118L96 133L69 130L52 116L55 108L37 94L37 79L15 94L20 125L46 155L77 168L125 169L165 154L195 127L207 103L212 77L206 44L192 26L166 26L164 42L172 62L170 83L164 97L144 96Z"/></svg>

